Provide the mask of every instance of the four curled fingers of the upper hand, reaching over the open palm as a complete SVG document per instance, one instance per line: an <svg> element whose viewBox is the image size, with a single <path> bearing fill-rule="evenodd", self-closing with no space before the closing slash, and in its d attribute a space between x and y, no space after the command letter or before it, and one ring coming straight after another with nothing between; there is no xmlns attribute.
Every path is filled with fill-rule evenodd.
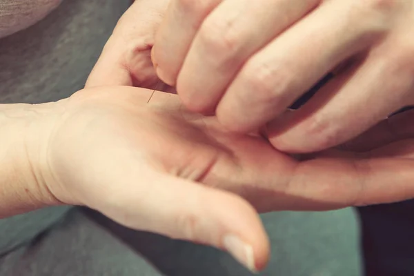
<svg viewBox="0 0 414 276"><path fill-rule="evenodd" d="M190 110L235 132L268 124L279 150L314 152L414 104L413 34L413 0L171 0L152 59Z"/></svg>

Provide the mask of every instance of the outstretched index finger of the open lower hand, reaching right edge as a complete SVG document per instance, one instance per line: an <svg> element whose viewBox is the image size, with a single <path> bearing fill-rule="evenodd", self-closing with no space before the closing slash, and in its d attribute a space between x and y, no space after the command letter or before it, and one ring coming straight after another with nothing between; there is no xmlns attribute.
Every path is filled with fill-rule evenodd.
<svg viewBox="0 0 414 276"><path fill-rule="evenodd" d="M319 158L297 165L275 209L331 210L414 197L411 159Z"/></svg>

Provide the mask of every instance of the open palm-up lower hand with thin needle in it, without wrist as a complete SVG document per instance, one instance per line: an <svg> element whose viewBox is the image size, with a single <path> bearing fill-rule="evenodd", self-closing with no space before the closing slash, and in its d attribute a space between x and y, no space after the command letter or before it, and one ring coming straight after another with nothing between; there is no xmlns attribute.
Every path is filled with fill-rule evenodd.
<svg viewBox="0 0 414 276"><path fill-rule="evenodd" d="M30 154L52 198L130 228L230 250L250 269L268 259L257 211L327 210L414 195L408 156L366 161L328 152L297 161L257 133L235 135L215 117L188 112L177 95L106 86L57 104L63 114L46 118L55 122L52 132L34 147L46 148L45 158Z"/></svg>

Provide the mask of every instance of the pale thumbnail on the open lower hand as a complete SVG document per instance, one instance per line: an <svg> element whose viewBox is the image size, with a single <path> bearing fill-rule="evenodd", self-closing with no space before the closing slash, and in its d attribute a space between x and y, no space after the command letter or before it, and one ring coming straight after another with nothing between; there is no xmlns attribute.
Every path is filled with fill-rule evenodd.
<svg viewBox="0 0 414 276"><path fill-rule="evenodd" d="M224 248L233 255L238 262L246 266L248 270L253 273L257 273L255 266L255 255L253 248L249 244L246 244L235 235L227 235L223 239Z"/></svg>

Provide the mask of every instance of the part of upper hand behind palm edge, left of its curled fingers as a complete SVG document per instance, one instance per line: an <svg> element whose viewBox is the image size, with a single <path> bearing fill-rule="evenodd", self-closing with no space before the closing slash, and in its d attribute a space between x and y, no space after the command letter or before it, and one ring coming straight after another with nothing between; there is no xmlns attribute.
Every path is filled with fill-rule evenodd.
<svg viewBox="0 0 414 276"><path fill-rule="evenodd" d="M150 57L170 0L137 0L119 20L86 87L137 86L173 92L159 81Z"/></svg>

